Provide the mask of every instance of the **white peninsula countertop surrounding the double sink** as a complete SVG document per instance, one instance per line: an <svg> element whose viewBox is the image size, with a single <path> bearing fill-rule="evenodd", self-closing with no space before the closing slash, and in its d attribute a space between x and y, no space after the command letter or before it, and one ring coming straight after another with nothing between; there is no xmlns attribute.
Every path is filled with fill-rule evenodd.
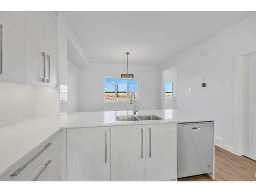
<svg viewBox="0 0 256 192"><path fill-rule="evenodd" d="M162 120L147 121L117 121L116 116L133 115L133 111L103 111L103 112L78 112L70 113L63 118L63 128L92 127L92 126L113 126L127 124L148 124L164 122L199 122L211 121L212 119L193 115L180 110L145 110L139 111L136 115L156 115Z"/></svg>

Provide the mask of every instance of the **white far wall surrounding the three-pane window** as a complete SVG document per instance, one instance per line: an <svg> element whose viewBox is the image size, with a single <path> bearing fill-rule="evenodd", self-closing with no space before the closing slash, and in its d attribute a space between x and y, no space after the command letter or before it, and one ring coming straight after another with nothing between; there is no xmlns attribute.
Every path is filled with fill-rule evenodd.
<svg viewBox="0 0 256 192"><path fill-rule="evenodd" d="M120 77L126 65L91 63L90 69L80 71L79 111L120 111L132 110L130 103L104 103L103 77ZM158 66L129 65L129 73L139 78L140 110L158 108Z"/></svg>

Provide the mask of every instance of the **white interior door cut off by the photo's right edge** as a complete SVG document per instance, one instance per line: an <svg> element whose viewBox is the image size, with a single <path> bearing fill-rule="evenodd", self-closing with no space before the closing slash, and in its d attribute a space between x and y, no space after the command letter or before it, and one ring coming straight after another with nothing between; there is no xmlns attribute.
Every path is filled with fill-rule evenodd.
<svg viewBox="0 0 256 192"><path fill-rule="evenodd" d="M243 57L243 155L256 160L256 54Z"/></svg>

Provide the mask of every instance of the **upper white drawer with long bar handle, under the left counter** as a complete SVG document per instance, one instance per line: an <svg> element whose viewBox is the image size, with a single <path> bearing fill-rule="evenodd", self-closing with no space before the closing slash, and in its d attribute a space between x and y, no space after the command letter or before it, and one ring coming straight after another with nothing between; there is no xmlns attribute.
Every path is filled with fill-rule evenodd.
<svg viewBox="0 0 256 192"><path fill-rule="evenodd" d="M56 146L57 134L40 144L35 150L12 166L0 178L0 181L24 181Z"/></svg>

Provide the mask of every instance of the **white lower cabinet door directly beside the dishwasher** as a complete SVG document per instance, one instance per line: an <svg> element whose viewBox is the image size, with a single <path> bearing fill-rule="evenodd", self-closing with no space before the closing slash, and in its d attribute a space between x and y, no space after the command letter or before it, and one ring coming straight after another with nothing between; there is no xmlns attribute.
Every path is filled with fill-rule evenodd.
<svg viewBox="0 0 256 192"><path fill-rule="evenodd" d="M177 178L177 123L146 125L146 181Z"/></svg>

